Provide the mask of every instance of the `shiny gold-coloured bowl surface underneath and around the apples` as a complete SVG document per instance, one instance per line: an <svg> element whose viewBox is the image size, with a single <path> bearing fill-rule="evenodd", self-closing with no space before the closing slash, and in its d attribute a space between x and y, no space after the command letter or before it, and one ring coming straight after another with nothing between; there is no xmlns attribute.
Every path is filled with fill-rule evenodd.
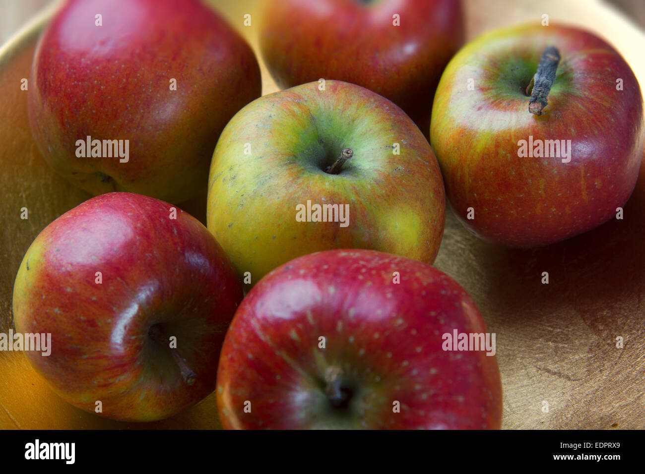
<svg viewBox="0 0 645 474"><path fill-rule="evenodd" d="M257 57L257 1L213 2L252 44ZM464 2L469 39L524 21L582 25L602 35L645 80L645 35L599 1ZM243 15L252 15L252 26ZM57 177L35 148L26 92L43 21L0 51L0 331L12 321L15 273L49 222L87 199ZM277 90L264 64L263 94ZM624 209L574 239L534 250L506 250L468 233L452 212L435 265L473 296L491 332L504 390L503 428L645 428L645 168ZM21 208L29 219L20 219ZM184 206L203 219L203 201ZM541 283L549 272L549 284ZM616 337L624 347L616 347ZM542 411L543 402L549 411ZM154 424L123 424L78 410L51 391L21 353L0 353L0 428L220 428L213 395Z"/></svg>

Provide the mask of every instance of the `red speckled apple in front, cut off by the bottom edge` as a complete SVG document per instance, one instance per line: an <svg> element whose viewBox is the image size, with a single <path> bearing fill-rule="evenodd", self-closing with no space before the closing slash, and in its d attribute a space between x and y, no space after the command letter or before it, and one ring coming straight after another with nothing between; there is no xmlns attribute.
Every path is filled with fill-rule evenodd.
<svg viewBox="0 0 645 474"><path fill-rule="evenodd" d="M494 344L455 351L455 332L489 336L471 297L432 266L372 250L304 255L235 313L220 419L227 429L500 428Z"/></svg>

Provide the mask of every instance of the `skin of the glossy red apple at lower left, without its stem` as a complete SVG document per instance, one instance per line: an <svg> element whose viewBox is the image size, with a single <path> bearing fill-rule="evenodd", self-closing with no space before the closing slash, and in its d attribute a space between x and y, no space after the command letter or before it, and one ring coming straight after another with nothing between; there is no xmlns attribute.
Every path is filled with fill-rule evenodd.
<svg viewBox="0 0 645 474"><path fill-rule="evenodd" d="M51 333L52 351L26 351L68 402L116 420L170 417L215 388L224 333L243 298L212 235L171 204L133 193L94 197L41 232L18 270L14 324ZM102 273L97 284L95 272ZM188 385L149 331L177 338L197 375Z"/></svg>

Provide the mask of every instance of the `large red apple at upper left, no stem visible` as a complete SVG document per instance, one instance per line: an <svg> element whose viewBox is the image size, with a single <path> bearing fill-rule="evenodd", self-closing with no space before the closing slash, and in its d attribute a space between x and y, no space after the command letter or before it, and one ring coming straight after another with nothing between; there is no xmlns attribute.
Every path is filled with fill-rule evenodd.
<svg viewBox="0 0 645 474"><path fill-rule="evenodd" d="M70 0L37 46L28 112L45 160L83 190L177 203L205 193L219 133L260 94L251 48L197 0ZM77 157L88 135L128 139L129 161Z"/></svg>

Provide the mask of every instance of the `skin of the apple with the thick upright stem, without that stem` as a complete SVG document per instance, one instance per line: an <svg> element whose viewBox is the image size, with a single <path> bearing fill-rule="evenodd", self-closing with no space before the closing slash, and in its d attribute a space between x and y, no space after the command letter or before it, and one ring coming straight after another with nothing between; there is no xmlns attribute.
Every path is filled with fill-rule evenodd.
<svg viewBox="0 0 645 474"><path fill-rule="evenodd" d="M547 45L558 48L561 61L537 116L522 88ZM618 78L624 90L616 90ZM518 142L529 135L570 139L570 163L519 157ZM509 247L562 241L615 217L634 189L645 146L639 83L609 44L584 30L497 30L464 46L446 67L430 143L466 228ZM468 220L470 207L475 219Z"/></svg>

